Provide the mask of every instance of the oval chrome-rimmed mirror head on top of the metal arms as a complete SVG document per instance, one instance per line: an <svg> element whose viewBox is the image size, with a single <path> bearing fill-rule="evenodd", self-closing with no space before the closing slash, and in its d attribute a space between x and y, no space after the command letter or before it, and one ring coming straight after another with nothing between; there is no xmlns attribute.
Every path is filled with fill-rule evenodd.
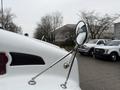
<svg viewBox="0 0 120 90"><path fill-rule="evenodd" d="M88 30L84 21L79 21L76 25L76 42L78 45L82 45L87 40Z"/></svg>

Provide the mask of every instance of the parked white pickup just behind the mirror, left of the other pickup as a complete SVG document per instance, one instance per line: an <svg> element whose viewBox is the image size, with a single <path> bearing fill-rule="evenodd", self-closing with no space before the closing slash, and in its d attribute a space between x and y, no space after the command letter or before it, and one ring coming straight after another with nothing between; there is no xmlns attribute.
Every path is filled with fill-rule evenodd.
<svg viewBox="0 0 120 90"><path fill-rule="evenodd" d="M92 39L89 40L84 45L80 46L79 52L81 55L87 54L87 55L93 55L94 47L96 45L104 45L108 40L107 39Z"/></svg>

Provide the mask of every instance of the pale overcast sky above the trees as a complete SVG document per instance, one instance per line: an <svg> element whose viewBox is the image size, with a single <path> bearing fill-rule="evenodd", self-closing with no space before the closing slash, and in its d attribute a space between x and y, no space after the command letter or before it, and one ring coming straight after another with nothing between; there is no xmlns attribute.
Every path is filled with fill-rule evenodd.
<svg viewBox="0 0 120 90"><path fill-rule="evenodd" d="M35 30L40 18L59 11L64 18L63 24L74 24L79 20L79 11L96 11L104 14L120 13L120 0L3 0L4 8L11 8L16 15L15 23L24 32Z"/></svg>

